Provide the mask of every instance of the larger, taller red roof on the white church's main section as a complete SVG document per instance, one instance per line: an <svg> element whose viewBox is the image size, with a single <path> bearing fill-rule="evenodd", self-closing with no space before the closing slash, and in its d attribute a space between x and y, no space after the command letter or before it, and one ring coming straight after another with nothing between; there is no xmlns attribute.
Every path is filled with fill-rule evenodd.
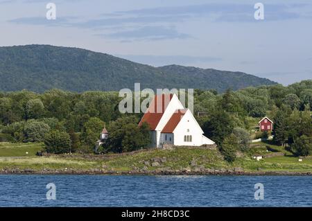
<svg viewBox="0 0 312 221"><path fill-rule="evenodd" d="M141 118L139 126L146 122L150 126L150 130L155 130L172 97L173 94L156 95Z"/></svg>

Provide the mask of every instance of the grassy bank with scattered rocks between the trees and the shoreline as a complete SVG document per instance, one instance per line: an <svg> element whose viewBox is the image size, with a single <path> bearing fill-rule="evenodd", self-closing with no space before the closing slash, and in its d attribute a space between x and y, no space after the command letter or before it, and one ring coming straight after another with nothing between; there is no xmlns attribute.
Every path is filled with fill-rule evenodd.
<svg viewBox="0 0 312 221"><path fill-rule="evenodd" d="M127 154L62 154L35 156L42 144L0 143L0 173L310 173L312 158L302 162L284 148L270 143L253 143L248 154L234 163L223 160L218 150L175 148L142 150ZM270 151L267 151L269 149ZM26 154L28 152L28 154ZM254 154L265 158L256 161Z"/></svg>

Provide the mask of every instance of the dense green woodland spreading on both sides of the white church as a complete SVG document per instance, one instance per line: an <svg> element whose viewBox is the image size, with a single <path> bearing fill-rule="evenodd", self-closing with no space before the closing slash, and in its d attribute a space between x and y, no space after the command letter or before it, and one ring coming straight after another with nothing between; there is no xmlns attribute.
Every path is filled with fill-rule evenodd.
<svg viewBox="0 0 312 221"><path fill-rule="evenodd" d="M0 92L0 141L44 141L46 151L55 153L92 152L105 125L110 138L98 152L144 148L148 126L137 126L143 113L121 114L121 99L116 91ZM248 149L252 137L268 136L256 128L263 116L274 121L276 143L297 155L312 154L311 110L312 80L288 87L247 87L223 94L196 89L194 93L194 116L228 161L234 161L237 150Z"/></svg>

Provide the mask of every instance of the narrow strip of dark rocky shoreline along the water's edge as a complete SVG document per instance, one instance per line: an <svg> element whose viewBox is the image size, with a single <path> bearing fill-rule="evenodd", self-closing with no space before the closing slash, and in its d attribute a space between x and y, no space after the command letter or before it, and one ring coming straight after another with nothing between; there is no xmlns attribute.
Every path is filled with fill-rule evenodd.
<svg viewBox="0 0 312 221"><path fill-rule="evenodd" d="M291 171L244 171L244 170L31 170L31 169L1 169L0 175L300 175L311 176L312 172Z"/></svg>

